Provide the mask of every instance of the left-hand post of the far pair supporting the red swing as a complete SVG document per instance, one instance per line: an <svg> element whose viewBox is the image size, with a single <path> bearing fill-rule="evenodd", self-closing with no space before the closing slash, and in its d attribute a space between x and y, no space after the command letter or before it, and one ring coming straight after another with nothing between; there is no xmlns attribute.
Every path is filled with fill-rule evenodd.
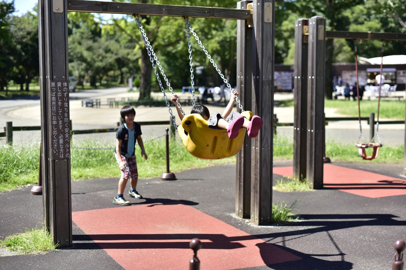
<svg viewBox="0 0 406 270"><path fill-rule="evenodd" d="M307 63L309 19L295 22L295 78L294 78L294 128L293 128L293 177L306 177L307 159Z"/></svg>

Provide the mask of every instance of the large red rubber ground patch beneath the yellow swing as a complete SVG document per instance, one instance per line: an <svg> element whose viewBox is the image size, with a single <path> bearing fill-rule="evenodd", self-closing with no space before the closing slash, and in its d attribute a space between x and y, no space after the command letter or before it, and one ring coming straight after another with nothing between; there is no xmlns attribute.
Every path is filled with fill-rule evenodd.
<svg viewBox="0 0 406 270"><path fill-rule="evenodd" d="M72 213L73 221L126 269L188 269L199 238L201 269L301 259L184 204L141 204Z"/></svg>

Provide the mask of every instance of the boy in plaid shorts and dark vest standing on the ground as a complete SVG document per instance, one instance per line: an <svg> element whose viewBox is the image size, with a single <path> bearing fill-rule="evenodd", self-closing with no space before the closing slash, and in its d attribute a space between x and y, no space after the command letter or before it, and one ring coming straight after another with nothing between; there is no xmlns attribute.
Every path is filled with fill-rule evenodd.
<svg viewBox="0 0 406 270"><path fill-rule="evenodd" d="M129 201L124 199L124 189L127 185L128 177L131 177L131 189L128 191L131 197L142 199L143 196L136 191L138 182L137 161L135 158L135 140L141 149L141 155L148 159L145 153L143 139L141 138L141 125L134 122L135 110L132 106L126 105L120 111L121 119L124 123L117 130L116 149L114 156L121 170L119 189L117 196L114 197L113 204L130 205Z"/></svg>

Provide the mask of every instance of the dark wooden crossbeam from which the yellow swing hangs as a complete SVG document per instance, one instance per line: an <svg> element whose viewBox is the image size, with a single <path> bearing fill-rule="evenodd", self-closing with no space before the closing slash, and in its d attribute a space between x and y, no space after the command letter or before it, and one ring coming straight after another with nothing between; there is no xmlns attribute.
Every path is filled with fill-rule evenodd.
<svg viewBox="0 0 406 270"><path fill-rule="evenodd" d="M89 0L68 0L67 8L68 11L77 12L141 14L175 17L188 16L215 19L251 19L250 12L245 9L225 9L203 6L175 6Z"/></svg>

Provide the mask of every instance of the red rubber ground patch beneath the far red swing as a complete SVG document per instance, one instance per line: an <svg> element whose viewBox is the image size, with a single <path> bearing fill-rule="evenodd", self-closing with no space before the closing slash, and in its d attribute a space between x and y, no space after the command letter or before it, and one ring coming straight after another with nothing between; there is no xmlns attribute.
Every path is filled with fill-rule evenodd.
<svg viewBox="0 0 406 270"><path fill-rule="evenodd" d="M293 176L293 167L274 167L274 174ZM324 164L324 187L369 198L406 194L406 181L374 172Z"/></svg>

